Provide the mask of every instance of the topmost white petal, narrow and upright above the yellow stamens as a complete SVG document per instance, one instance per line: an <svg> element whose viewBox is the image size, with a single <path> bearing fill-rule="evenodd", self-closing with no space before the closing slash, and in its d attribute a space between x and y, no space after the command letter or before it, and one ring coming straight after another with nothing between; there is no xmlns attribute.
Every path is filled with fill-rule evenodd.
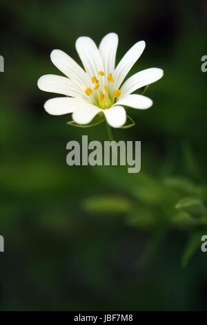
<svg viewBox="0 0 207 325"><path fill-rule="evenodd" d="M106 75L108 75L108 73L114 75L118 41L117 34L115 34L115 32L110 32L103 37L99 45L99 51L103 59L104 72Z"/></svg>

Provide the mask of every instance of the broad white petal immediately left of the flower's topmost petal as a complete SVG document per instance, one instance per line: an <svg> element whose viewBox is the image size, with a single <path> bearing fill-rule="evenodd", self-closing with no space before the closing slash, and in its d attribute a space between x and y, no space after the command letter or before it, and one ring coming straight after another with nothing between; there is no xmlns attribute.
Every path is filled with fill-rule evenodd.
<svg viewBox="0 0 207 325"><path fill-rule="evenodd" d="M92 77L103 71L103 62L95 42L90 37L82 36L76 41L76 49L86 72Z"/></svg>

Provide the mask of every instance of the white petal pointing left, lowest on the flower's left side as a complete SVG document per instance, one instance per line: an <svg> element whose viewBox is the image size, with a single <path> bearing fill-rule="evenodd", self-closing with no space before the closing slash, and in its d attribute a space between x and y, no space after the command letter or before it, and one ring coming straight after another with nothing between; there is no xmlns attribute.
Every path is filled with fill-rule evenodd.
<svg viewBox="0 0 207 325"><path fill-rule="evenodd" d="M57 97L47 100L44 108L51 115L64 115L74 112L79 105L83 105L83 102L77 98Z"/></svg>

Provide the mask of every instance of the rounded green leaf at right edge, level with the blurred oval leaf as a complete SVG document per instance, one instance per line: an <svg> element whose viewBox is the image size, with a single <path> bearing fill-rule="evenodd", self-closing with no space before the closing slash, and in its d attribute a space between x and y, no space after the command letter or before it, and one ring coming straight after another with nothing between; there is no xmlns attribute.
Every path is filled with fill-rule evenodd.
<svg viewBox="0 0 207 325"><path fill-rule="evenodd" d="M204 203L199 198L181 198L175 205L177 210L184 210L195 216L200 216L206 212L206 207Z"/></svg>

